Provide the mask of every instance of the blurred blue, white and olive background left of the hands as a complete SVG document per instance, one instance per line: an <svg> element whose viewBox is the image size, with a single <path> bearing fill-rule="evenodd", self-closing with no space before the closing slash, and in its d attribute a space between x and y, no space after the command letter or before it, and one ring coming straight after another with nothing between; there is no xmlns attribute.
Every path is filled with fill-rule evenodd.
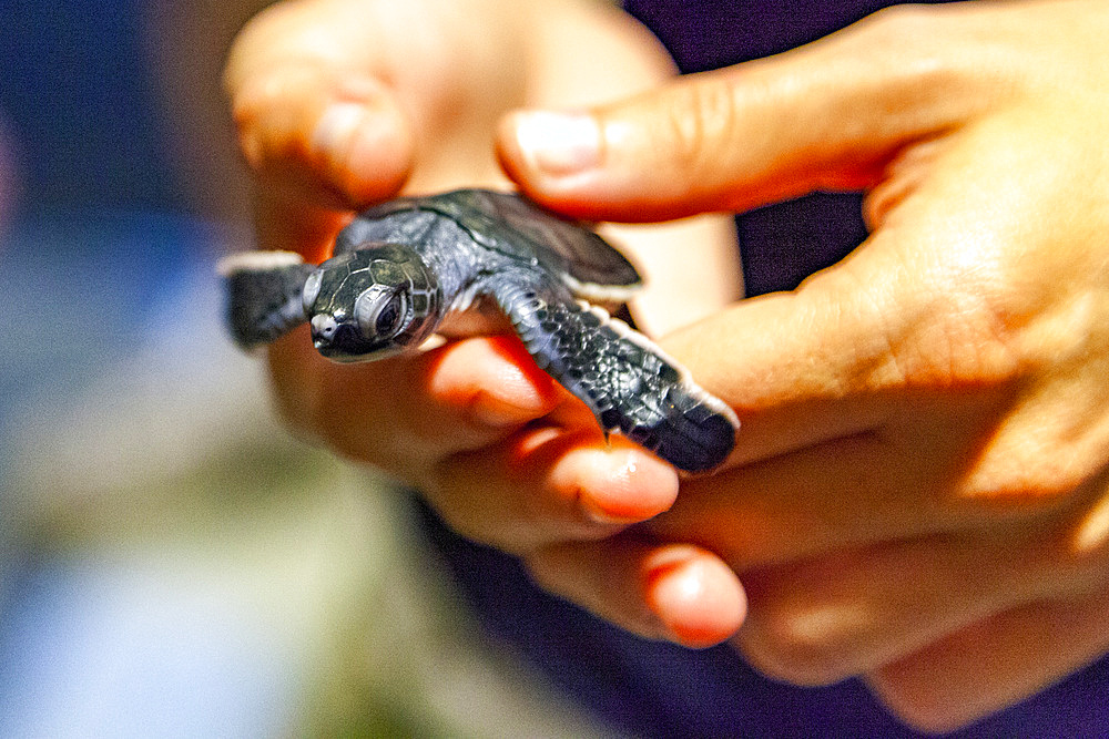
<svg viewBox="0 0 1109 739"><path fill-rule="evenodd" d="M597 733L223 337L264 4L0 0L0 736Z"/></svg>

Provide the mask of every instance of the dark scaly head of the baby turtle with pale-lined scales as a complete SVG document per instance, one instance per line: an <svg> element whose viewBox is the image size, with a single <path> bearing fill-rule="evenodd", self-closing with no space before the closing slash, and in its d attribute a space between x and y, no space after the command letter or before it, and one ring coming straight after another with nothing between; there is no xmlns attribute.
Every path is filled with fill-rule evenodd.
<svg viewBox="0 0 1109 739"><path fill-rule="evenodd" d="M304 284L312 341L336 361L388 357L419 346L439 322L441 291L410 247L385 244L339 255Z"/></svg>

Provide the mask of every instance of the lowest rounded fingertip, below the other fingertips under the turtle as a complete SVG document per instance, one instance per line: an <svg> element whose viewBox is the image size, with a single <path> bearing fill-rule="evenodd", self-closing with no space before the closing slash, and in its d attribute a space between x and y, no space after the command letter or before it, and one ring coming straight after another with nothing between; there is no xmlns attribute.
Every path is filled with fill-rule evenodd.
<svg viewBox="0 0 1109 739"><path fill-rule="evenodd" d="M655 552L644 567L644 601L678 644L711 647L743 624L746 594L735 573L715 555L671 546Z"/></svg>

